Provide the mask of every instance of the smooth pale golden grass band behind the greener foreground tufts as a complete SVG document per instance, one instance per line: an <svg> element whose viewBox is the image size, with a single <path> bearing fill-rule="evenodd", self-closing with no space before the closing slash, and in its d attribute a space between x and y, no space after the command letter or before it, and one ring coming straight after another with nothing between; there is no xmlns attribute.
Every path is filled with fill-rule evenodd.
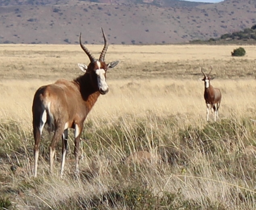
<svg viewBox="0 0 256 210"><path fill-rule="evenodd" d="M31 127L32 101L35 90L52 81L8 80L0 86L0 119L23 121ZM11 85L10 85L11 84ZM100 96L88 119L94 121L135 114L144 117L150 113L158 116L179 115L185 123L206 117L204 83L188 79L141 79L112 80L108 82L110 92ZM221 118L255 114L256 83L253 79L216 79L212 85L223 94L219 114Z"/></svg>

